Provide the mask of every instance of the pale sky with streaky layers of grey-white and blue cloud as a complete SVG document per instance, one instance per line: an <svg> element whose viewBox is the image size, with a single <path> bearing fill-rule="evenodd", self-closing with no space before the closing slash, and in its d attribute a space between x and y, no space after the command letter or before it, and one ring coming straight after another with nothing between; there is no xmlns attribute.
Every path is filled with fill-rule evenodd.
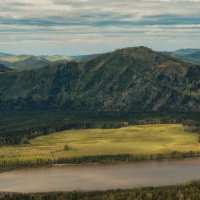
<svg viewBox="0 0 200 200"><path fill-rule="evenodd" d="M0 52L200 48L200 0L0 0Z"/></svg>

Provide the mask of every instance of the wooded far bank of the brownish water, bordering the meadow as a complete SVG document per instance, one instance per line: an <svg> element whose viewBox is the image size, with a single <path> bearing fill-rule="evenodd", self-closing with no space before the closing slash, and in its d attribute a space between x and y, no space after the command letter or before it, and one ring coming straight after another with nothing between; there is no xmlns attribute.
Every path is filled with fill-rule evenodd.
<svg viewBox="0 0 200 200"><path fill-rule="evenodd" d="M173 161L184 160L188 158L200 158L200 151L194 152L176 152L173 151L167 154L150 154L150 155L99 155L85 156L74 158L61 158L58 160L36 160L34 162L4 162L4 166L0 166L0 173L13 171L18 169L53 167L53 166L80 166L80 165L103 165L103 164L122 164L122 163L137 163L144 161Z"/></svg>

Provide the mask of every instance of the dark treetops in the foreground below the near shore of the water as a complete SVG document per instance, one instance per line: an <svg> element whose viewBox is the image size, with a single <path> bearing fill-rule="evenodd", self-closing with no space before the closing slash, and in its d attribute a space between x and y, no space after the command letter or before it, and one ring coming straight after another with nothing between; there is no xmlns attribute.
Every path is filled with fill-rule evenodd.
<svg viewBox="0 0 200 200"><path fill-rule="evenodd" d="M17 194L2 193L1 200L198 200L200 199L200 182L194 181L188 184L165 186L165 187L147 187L129 190L108 190L94 192L55 192L38 194Z"/></svg>

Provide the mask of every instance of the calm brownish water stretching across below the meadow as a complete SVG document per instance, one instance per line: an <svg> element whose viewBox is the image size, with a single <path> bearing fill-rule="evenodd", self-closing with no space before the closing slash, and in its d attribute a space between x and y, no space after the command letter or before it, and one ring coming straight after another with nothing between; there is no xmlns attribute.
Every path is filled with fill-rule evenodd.
<svg viewBox="0 0 200 200"><path fill-rule="evenodd" d="M47 192L160 186L200 179L200 159L23 169L0 174L0 191Z"/></svg>

